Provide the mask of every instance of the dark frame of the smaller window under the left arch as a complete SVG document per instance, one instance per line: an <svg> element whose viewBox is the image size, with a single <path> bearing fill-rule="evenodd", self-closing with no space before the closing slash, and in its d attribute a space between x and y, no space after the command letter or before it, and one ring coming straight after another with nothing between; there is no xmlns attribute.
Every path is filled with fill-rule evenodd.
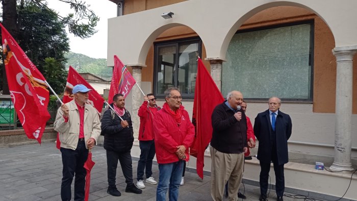
<svg viewBox="0 0 357 201"><path fill-rule="evenodd" d="M167 47L167 46L175 46L176 47L176 55L175 55L175 65L174 68L174 87L178 86L178 80L179 80L179 51L180 51L180 45L183 44L192 44L192 43L197 43L198 44L198 55L201 57L202 54L202 40L199 37L190 37L190 38L181 38L181 39L176 39L176 40L168 40L168 41L160 41L160 42L154 42L154 83L152 85L153 87L153 92L155 97L158 98L163 98L164 94L163 93L158 93L157 87L158 87L158 69L159 69L159 48L160 47ZM192 94L184 94L181 92L181 95L183 98L188 98L188 99L193 99L194 98L194 92Z"/></svg>

